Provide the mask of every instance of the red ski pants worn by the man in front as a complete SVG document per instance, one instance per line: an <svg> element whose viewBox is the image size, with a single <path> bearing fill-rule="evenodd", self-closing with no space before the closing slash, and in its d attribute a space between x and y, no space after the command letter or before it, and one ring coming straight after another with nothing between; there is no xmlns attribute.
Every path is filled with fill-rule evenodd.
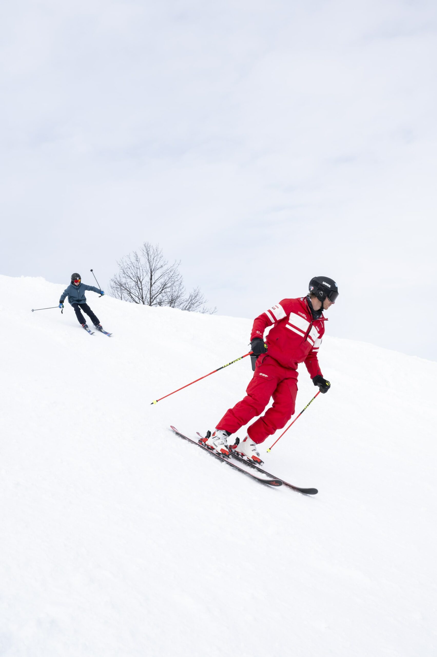
<svg viewBox="0 0 437 657"><path fill-rule="evenodd" d="M258 357L252 380L246 388L246 397L226 411L216 428L234 434L253 417L260 415L273 397L271 406L248 427L247 433L254 443L264 442L267 436L282 429L294 414L298 392L298 373L279 365L267 353Z"/></svg>

